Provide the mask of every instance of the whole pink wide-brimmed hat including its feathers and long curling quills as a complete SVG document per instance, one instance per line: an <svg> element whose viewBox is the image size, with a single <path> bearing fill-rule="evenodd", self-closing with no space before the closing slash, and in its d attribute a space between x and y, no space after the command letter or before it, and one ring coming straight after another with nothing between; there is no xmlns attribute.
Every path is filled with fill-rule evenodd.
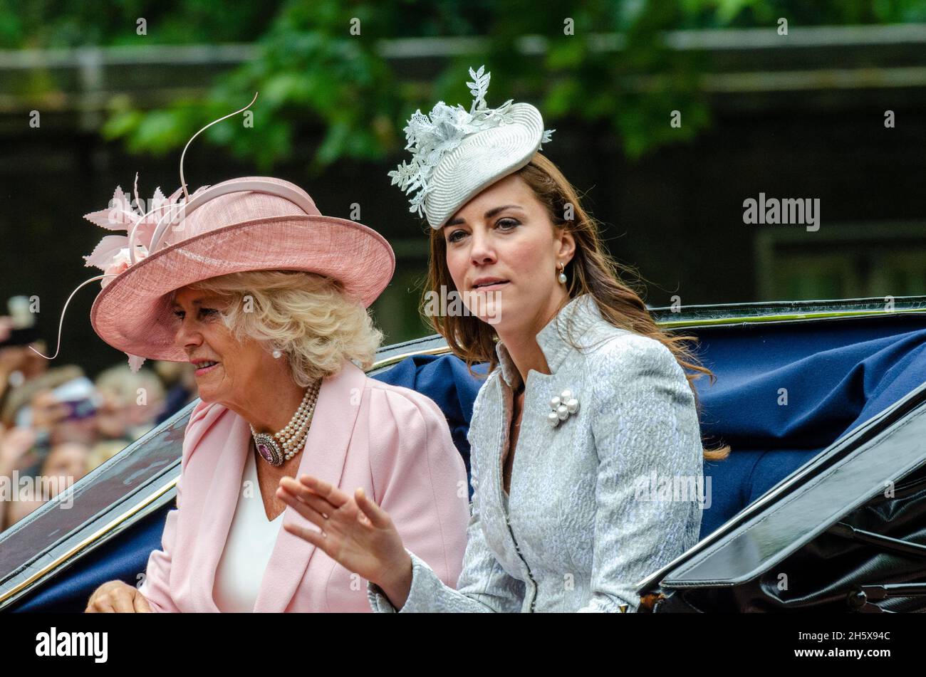
<svg viewBox="0 0 926 677"><path fill-rule="evenodd" d="M209 123L190 142L252 104ZM338 280L365 307L389 284L395 255L375 230L322 215L306 191L281 178L232 178L190 195L183 180L183 154L181 189L170 197L158 189L148 213L136 212L117 187L108 209L85 215L103 228L127 234L104 237L83 257L104 275L71 292L61 311L58 349L51 357L40 355L56 357L70 299L97 279L103 289L91 308L91 324L101 339L129 356L132 371L145 358L187 361L174 345L169 296L194 282L250 270L303 270ZM134 194L138 201L137 175Z"/></svg>

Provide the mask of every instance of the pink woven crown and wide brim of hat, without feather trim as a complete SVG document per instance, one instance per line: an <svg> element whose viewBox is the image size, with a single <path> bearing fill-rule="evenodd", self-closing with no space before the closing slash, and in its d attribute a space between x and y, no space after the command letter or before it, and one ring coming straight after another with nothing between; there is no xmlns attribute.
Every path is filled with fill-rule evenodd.
<svg viewBox="0 0 926 677"><path fill-rule="evenodd" d="M129 265L97 295L90 321L101 339L130 355L187 362L189 356L174 344L170 292L229 273L302 270L338 280L364 307L376 300L395 269L394 252L382 235L356 221L322 215L306 191L280 178L233 178L207 192L249 181L295 191L302 206L252 190L202 203L164 232L155 252Z"/></svg>

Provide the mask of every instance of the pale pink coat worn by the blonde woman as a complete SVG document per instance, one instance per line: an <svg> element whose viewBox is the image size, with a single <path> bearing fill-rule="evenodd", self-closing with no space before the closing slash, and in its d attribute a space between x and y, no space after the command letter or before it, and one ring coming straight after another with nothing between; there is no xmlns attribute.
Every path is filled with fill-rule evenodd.
<svg viewBox="0 0 926 677"><path fill-rule="evenodd" d="M216 568L242 488L250 428L200 402L183 438L178 509L140 587L156 611L218 611ZM369 378L345 362L319 391L299 474L347 493L362 486L389 512L409 550L456 586L466 548L466 470L443 413L424 395ZM259 489L258 489L259 491ZM316 527L287 506L285 522ZM367 582L307 541L280 530L255 611L369 611Z"/></svg>

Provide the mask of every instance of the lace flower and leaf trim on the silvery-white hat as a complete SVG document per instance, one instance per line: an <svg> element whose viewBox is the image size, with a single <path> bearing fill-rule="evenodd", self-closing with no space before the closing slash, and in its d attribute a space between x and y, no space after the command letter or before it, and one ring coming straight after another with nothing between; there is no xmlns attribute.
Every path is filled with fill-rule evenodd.
<svg viewBox="0 0 926 677"><path fill-rule="evenodd" d="M485 129L492 129L514 122L511 114L513 99L508 99L497 108L489 108L485 103L485 92L489 89L491 73L485 73L485 66L474 71L469 68L467 82L469 93L475 98L469 106L469 112L462 105L446 105L443 101L437 102L431 110L431 115L424 115L421 110L415 111L408 119L405 128L407 145L406 150L412 152L411 162L403 162L397 169L389 172L393 182L399 189L409 194L418 191L411 198L409 212L423 215L428 193L432 191L429 183L434 167L438 165L444 154L457 148L467 137ZM556 129L545 129L541 144L550 141L550 134Z"/></svg>

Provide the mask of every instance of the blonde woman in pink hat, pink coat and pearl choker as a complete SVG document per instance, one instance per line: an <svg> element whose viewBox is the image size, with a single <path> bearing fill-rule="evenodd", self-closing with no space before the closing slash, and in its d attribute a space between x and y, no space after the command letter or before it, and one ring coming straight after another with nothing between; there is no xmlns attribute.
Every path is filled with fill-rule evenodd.
<svg viewBox="0 0 926 677"><path fill-rule="evenodd" d="M133 369L194 363L202 401L183 438L177 510L142 585L106 583L87 610L369 611L366 581L281 528L309 524L275 496L297 475L363 487L456 585L469 511L444 416L364 374L382 338L367 308L393 275L389 244L321 215L279 178L188 195L181 159L181 185L183 197L157 191L144 215L119 189L88 215L127 230L85 257L106 271L93 278L105 285L95 331Z"/></svg>

